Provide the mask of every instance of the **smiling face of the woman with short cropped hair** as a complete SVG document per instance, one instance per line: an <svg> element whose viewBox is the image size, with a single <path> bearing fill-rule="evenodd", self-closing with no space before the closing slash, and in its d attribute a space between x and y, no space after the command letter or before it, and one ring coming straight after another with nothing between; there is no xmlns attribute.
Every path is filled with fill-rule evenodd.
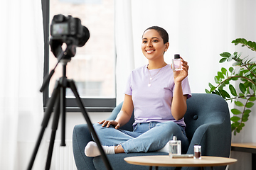
<svg viewBox="0 0 256 170"><path fill-rule="evenodd" d="M146 30L142 36L142 52L148 60L158 60L164 57L164 51L169 47L169 42L164 44L163 38L156 30Z"/></svg>

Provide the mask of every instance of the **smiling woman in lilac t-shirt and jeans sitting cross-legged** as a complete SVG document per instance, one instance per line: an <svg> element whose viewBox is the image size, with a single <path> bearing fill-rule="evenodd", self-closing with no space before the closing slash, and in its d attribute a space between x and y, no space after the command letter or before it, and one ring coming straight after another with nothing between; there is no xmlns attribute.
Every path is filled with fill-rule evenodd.
<svg viewBox="0 0 256 170"><path fill-rule="evenodd" d="M124 91L124 103L115 120L102 120L94 125L106 154L129 152L169 152L169 140L181 140L181 152L188 149L186 100L191 97L188 63L181 58L182 70L173 71L164 61L169 35L163 28L147 28L142 35L142 52L149 60L134 69ZM119 130L134 110L134 131ZM87 157L100 155L95 142L85 147Z"/></svg>

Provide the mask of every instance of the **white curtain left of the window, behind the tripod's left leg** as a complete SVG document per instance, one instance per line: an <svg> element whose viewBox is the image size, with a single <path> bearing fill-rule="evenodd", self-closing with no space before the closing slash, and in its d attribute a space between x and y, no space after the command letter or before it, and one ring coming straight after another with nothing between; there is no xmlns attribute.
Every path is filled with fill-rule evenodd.
<svg viewBox="0 0 256 170"><path fill-rule="evenodd" d="M0 169L26 169L43 118L41 1L1 1L0 16Z"/></svg>

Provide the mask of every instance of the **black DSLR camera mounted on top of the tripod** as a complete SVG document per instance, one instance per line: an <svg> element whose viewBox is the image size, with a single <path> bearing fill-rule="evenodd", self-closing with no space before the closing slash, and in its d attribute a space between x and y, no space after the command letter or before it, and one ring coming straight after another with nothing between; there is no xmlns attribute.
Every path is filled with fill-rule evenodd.
<svg viewBox="0 0 256 170"><path fill-rule="evenodd" d="M50 47L55 57L63 52L63 42L67 44L67 57L74 57L75 47L82 47L90 38L89 30L81 25L79 18L62 14L53 16L50 35Z"/></svg>

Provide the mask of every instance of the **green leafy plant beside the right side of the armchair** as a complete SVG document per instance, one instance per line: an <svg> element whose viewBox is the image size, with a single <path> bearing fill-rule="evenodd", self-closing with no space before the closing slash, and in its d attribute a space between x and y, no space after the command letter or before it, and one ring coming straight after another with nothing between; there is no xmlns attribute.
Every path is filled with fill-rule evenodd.
<svg viewBox="0 0 256 170"><path fill-rule="evenodd" d="M242 47L248 47L250 50L256 52L256 42L247 41L244 38L233 40L235 45L241 44ZM242 57L242 53L223 52L220 54L222 57L220 63L233 61L233 66L229 69L221 68L221 71L214 77L215 86L209 83L210 89L206 89L208 94L218 94L226 101L235 103L235 108L231 109L233 117L231 120L231 129L236 135L245 126L251 108L254 106L256 100L256 64L252 59ZM238 87L231 84L233 81L238 81Z"/></svg>

